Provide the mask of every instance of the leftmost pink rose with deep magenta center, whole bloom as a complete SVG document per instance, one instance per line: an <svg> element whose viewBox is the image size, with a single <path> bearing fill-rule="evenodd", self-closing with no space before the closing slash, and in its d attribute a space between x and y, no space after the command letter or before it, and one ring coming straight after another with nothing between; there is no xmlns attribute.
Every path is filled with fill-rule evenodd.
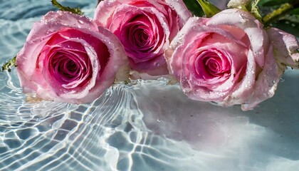
<svg viewBox="0 0 299 171"><path fill-rule="evenodd" d="M86 103L100 95L128 65L117 37L90 19L48 12L34 24L16 57L24 93L65 103Z"/></svg>

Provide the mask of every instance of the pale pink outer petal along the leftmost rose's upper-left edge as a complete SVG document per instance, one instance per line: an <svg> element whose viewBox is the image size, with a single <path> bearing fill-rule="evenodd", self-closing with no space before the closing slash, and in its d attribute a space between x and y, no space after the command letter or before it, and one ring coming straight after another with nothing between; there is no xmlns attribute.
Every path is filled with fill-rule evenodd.
<svg viewBox="0 0 299 171"><path fill-rule="evenodd" d="M52 34L61 30L61 28L66 27L97 30L97 26L93 21L84 16L70 14L65 11L48 12L48 14L43 16L43 20L38 21L33 25L24 47L18 53L16 60L16 65L18 66L17 71L24 76L20 77L21 84L26 82L23 81L23 78L25 78L27 81L36 82L46 88L46 82L41 78L41 74L38 73L40 71L36 71L36 63L33 63L32 61L37 61L38 54L41 52L43 46L45 46L48 39L51 38ZM29 84L34 87L34 84ZM29 85L26 83L24 86L27 87ZM36 89L33 87L33 90Z"/></svg>

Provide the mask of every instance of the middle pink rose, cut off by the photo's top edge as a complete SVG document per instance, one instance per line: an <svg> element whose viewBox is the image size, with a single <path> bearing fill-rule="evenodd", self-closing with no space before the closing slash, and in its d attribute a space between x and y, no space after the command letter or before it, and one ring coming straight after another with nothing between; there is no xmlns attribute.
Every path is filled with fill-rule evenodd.
<svg viewBox="0 0 299 171"><path fill-rule="evenodd" d="M107 0L94 21L120 39L132 69L157 76L168 73L164 50L190 16L182 0Z"/></svg>

